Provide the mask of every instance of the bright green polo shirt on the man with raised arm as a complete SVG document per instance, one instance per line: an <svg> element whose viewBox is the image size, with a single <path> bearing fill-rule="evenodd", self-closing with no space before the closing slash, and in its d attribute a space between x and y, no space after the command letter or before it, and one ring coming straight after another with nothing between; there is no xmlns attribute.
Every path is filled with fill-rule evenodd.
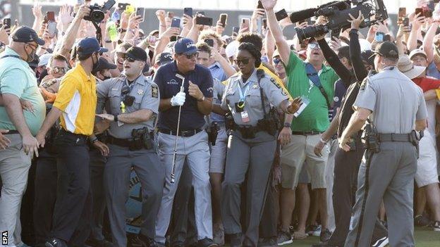
<svg viewBox="0 0 440 247"><path fill-rule="evenodd" d="M305 62L291 51L288 65L285 66L288 77L287 90L293 98L298 96L306 96L310 99L309 105L302 111L298 118L293 118L293 131L320 131L324 132L329 128L329 109L326 99L314 86L313 82L307 77L305 70ZM334 83L339 77L330 67L322 65L319 71L319 80L322 87L329 96L329 100L334 96Z"/></svg>

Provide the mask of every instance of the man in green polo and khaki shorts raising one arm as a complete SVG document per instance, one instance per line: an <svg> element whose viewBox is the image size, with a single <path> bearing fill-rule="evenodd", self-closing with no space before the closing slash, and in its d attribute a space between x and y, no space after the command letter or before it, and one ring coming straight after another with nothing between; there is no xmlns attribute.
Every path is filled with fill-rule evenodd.
<svg viewBox="0 0 440 247"><path fill-rule="evenodd" d="M326 67L324 56L317 42L307 46L307 63L298 58L290 49L279 23L276 21L274 6L276 0L263 0L262 4L267 13L267 24L274 36L276 47L279 50L281 61L286 67L288 77L288 91L291 96L305 96L303 110L298 117L287 115L284 127L281 130L281 170L283 172L281 190L281 232L279 244L291 243L289 233L292 212L295 203L295 188L298 184L299 172L305 160L307 170L311 176L312 189L317 189L319 215L321 215L322 241L329 238L326 209L326 181L325 170L328 152L317 156L312 148L322 141L321 134L329 127L329 99L334 95L334 83L338 80L336 72ZM307 71L310 70L310 71ZM312 72L313 71L313 72ZM314 81L312 81L314 80ZM307 98L308 99L307 99ZM310 99L310 100L309 100ZM308 104L307 104L308 103Z"/></svg>

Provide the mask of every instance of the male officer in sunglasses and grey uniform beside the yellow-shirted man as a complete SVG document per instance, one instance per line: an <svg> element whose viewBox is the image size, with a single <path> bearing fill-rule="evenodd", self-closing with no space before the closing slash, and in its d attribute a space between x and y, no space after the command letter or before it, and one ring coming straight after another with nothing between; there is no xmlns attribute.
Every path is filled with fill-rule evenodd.
<svg viewBox="0 0 440 247"><path fill-rule="evenodd" d="M142 188L143 223L139 239L152 246L165 177L152 135L159 109L159 88L142 75L147 61L143 49L133 46L121 55L123 75L97 86L98 109L102 110L104 104L109 109L97 116L111 122L106 141L110 152L104 169L106 205L114 246L127 246L125 203L134 167Z"/></svg>

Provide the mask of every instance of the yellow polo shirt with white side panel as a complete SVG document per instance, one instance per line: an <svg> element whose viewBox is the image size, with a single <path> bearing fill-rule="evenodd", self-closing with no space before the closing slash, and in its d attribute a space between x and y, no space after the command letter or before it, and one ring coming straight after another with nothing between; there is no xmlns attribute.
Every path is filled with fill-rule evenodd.
<svg viewBox="0 0 440 247"><path fill-rule="evenodd" d="M61 80L54 106L63 111L61 127L68 132L90 136L97 106L96 80L78 63Z"/></svg>

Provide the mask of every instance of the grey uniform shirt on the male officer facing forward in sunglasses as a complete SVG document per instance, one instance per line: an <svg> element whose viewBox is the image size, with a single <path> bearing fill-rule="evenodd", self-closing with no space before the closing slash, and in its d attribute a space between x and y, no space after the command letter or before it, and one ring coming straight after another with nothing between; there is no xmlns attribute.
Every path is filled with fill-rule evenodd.
<svg viewBox="0 0 440 247"><path fill-rule="evenodd" d="M109 114L123 113L123 109L121 108L121 101L123 101L121 91L126 83L126 77L121 76L97 84L97 109L102 110L105 106L106 112ZM157 84L151 79L141 75L135 82L132 82L128 95L133 96L135 100L132 106L125 106L125 113L148 109L153 112L153 115L147 122L140 122L138 124L124 123L119 126L117 122L111 122L109 134L112 137L129 139L132 137L131 132L133 129L141 129L143 127L148 127L149 131L154 129L157 114L159 113L160 102Z"/></svg>

